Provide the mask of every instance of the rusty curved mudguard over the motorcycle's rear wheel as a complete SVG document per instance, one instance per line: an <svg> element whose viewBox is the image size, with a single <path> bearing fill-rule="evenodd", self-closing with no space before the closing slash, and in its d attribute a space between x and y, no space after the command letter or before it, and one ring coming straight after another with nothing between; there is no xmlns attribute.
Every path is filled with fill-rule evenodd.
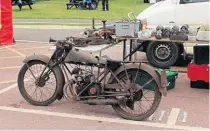
<svg viewBox="0 0 210 131"><path fill-rule="evenodd" d="M123 72L125 69L128 70L128 69L137 69L137 68L139 68L139 64L135 64L135 63L125 64L125 67L121 66L114 72L114 74L117 76L118 74ZM154 78L154 80L156 81L158 85L159 91L163 94L163 96L166 96L168 82L167 82L165 71L162 71L161 75L159 75L151 66L144 63L141 63L140 69L146 71L148 74L150 74ZM111 75L108 83L111 83L114 79L115 79L114 76Z"/></svg>

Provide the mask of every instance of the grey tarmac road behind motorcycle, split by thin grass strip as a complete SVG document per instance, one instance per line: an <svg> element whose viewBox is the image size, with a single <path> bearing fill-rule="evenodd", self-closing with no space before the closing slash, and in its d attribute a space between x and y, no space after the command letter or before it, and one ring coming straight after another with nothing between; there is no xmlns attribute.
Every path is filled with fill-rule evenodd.
<svg viewBox="0 0 210 131"><path fill-rule="evenodd" d="M118 20L107 20L106 24L113 24ZM91 19L13 19L15 23L60 23L60 24L91 24ZM101 24L101 20L95 20ZM78 26L51 26L51 25L13 25L15 40L42 41L48 42L50 37L64 39L67 36L80 36L85 28ZM96 26L97 27L97 26ZM41 31L40 31L41 30Z"/></svg>

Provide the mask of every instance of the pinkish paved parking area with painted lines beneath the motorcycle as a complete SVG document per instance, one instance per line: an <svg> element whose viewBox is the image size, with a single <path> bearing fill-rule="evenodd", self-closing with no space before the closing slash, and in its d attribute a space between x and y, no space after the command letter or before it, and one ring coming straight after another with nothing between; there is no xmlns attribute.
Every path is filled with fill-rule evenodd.
<svg viewBox="0 0 210 131"><path fill-rule="evenodd" d="M17 75L25 56L50 56L50 44L17 43L0 46L0 127L1 129L208 129L209 91L192 89L185 73L179 73L176 87L163 97L158 110L146 121L129 121L117 116L110 106L89 106L71 100L56 101L47 107L28 104L17 88ZM103 54L115 59L122 47ZM116 55L117 54L117 55ZM144 54L138 54L145 59Z"/></svg>

